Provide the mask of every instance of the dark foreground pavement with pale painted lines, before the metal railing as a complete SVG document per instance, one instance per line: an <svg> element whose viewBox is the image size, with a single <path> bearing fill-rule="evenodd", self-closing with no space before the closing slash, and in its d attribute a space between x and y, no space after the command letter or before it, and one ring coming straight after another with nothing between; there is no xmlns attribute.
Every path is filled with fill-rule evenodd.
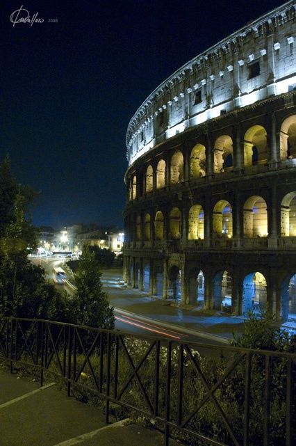
<svg viewBox="0 0 296 446"><path fill-rule="evenodd" d="M40 387L0 370L1 446L158 446L163 435L135 424L104 423L104 414L55 383ZM177 446L170 440L170 445Z"/></svg>

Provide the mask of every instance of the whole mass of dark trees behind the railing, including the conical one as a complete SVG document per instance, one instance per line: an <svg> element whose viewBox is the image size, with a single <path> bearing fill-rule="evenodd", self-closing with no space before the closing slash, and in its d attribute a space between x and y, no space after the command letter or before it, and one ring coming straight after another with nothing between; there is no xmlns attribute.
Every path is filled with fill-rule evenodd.
<svg viewBox="0 0 296 446"><path fill-rule="evenodd" d="M100 264L85 249L74 298L44 278L28 254L36 246L30 209L35 193L17 183L9 158L0 164L0 316L51 319L113 328L113 309L101 289Z"/></svg>

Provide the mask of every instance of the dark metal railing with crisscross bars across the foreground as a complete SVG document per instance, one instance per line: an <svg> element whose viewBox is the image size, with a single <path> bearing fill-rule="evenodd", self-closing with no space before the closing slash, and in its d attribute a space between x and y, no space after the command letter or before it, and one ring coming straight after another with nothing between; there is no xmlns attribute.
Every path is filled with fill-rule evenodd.
<svg viewBox="0 0 296 446"><path fill-rule="evenodd" d="M0 319L10 372L49 371L190 445L296 444L296 355L181 343L37 319Z"/></svg>

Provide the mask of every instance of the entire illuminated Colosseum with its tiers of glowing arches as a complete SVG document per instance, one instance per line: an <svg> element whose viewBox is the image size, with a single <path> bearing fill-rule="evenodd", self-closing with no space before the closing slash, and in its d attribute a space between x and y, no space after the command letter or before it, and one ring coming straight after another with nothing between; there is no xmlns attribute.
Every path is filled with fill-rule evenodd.
<svg viewBox="0 0 296 446"><path fill-rule="evenodd" d="M124 280L296 326L296 5L176 70L129 122Z"/></svg>

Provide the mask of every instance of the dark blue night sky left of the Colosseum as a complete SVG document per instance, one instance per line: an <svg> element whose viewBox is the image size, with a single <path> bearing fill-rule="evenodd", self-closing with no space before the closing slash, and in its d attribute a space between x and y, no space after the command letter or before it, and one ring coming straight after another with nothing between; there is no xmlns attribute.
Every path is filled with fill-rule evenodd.
<svg viewBox="0 0 296 446"><path fill-rule="evenodd" d="M1 161L10 154L17 180L40 192L33 223L122 226L126 127L138 106L181 65L282 3L1 2ZM22 5L44 22L13 26Z"/></svg>

